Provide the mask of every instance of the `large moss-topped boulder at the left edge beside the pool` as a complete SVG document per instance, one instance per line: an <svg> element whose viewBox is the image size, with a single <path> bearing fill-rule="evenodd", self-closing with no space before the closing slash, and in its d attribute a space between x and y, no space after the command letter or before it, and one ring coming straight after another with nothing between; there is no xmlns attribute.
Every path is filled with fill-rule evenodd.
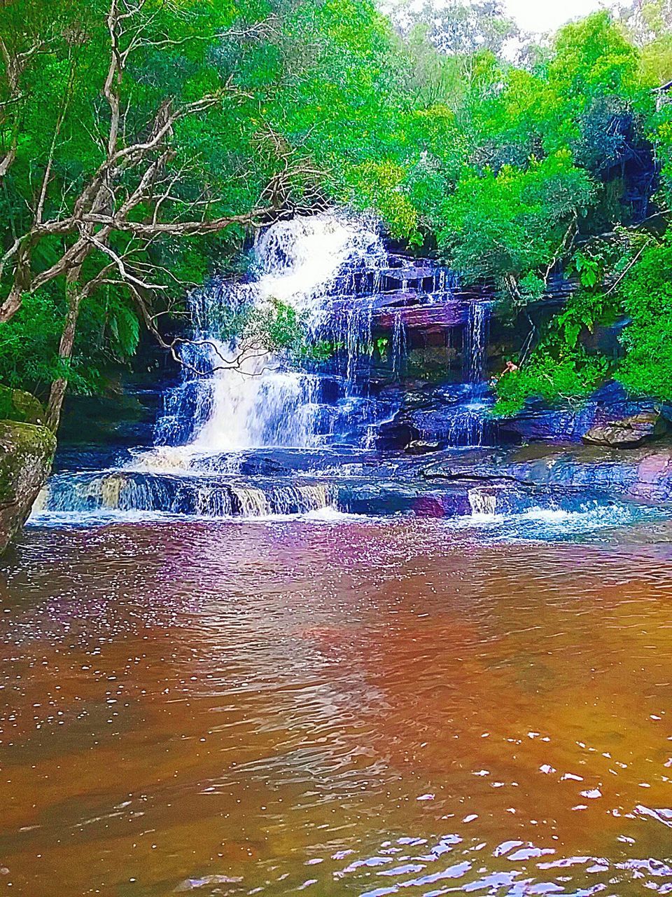
<svg viewBox="0 0 672 897"><path fill-rule="evenodd" d="M0 421L0 553L28 518L55 451L56 437L47 427Z"/></svg>

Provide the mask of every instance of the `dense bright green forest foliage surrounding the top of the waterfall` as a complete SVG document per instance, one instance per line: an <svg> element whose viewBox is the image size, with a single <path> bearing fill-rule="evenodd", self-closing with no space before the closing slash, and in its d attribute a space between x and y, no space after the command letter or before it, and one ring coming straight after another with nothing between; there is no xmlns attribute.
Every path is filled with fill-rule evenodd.
<svg viewBox="0 0 672 897"><path fill-rule="evenodd" d="M490 0L392 19L369 0L7 0L0 381L102 388L255 226L338 202L513 315L561 268L581 283L499 380L500 414L608 377L672 397L668 15L597 13L534 46ZM619 320L622 357L587 347ZM300 342L286 308L263 328Z"/></svg>

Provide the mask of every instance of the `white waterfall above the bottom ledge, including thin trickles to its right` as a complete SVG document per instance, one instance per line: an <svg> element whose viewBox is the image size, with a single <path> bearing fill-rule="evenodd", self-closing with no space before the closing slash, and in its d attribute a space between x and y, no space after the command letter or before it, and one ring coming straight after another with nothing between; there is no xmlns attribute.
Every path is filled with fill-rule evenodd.
<svg viewBox="0 0 672 897"><path fill-rule="evenodd" d="M427 260L390 254L375 222L334 211L273 224L257 239L251 272L245 283L217 278L192 293L194 340L185 344L182 382L165 398L157 444L182 447L187 456L198 456L201 468L203 456L254 448L370 445L375 425L392 410L389 401L376 401L369 384L374 328L381 320L375 316L387 309L390 368L398 378L408 352L405 309L443 309L452 300L454 274ZM236 309L263 309L271 300L303 316L308 344L332 346L328 364L306 361L296 370L281 355L243 352L236 370L222 370L222 359L240 352L222 323ZM476 379L485 370L487 307L475 308L474 315ZM212 373L197 376L194 370Z"/></svg>

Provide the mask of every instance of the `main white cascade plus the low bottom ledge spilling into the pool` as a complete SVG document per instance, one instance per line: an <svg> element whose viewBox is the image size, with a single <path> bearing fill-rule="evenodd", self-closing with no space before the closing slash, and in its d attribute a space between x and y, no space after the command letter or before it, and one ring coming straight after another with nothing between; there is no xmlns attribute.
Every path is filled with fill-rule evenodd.
<svg viewBox="0 0 672 897"><path fill-rule="evenodd" d="M366 448L372 424L389 415L389 404L368 395L359 363L366 370L389 258L372 222L343 213L271 226L254 247L249 279L218 278L190 296L194 329L183 345L183 378L165 398L155 447L120 468L54 477L45 507L216 517L336 507L332 483L309 470L294 476L259 453L339 441ZM275 300L302 316L310 343L335 347L324 369L307 361L297 370L281 354L231 338L241 309L263 310ZM286 456L289 464L293 458ZM279 469L280 478L268 475Z"/></svg>

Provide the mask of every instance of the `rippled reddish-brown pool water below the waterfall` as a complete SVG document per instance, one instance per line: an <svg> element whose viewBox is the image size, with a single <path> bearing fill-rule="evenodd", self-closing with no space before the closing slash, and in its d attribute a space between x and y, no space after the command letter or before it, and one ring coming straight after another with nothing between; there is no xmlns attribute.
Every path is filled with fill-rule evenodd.
<svg viewBox="0 0 672 897"><path fill-rule="evenodd" d="M668 545L29 529L0 894L672 894Z"/></svg>

